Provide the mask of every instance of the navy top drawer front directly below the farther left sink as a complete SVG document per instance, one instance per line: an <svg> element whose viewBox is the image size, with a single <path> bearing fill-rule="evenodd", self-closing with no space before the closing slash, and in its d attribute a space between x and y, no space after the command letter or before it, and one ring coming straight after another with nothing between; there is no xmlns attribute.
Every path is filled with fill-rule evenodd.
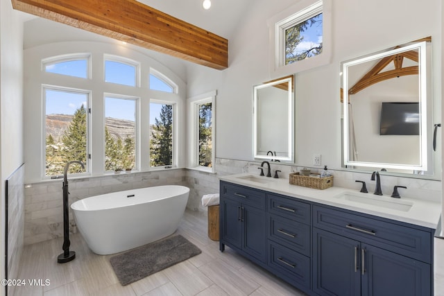
<svg viewBox="0 0 444 296"><path fill-rule="evenodd" d="M264 191L225 182L222 182L221 186L221 193L224 197L237 200L244 204L250 204L259 209L265 209L266 193Z"/></svg>

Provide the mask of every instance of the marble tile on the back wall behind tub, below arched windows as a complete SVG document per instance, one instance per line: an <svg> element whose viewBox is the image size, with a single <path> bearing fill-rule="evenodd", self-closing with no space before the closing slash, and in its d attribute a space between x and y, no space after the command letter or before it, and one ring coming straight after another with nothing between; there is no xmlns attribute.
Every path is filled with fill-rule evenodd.
<svg viewBox="0 0 444 296"><path fill-rule="evenodd" d="M94 195L165 184L186 185L186 170L121 173L102 177L69 179L69 204ZM26 184L26 245L63 236L62 179ZM74 216L69 211L70 232L76 232Z"/></svg>

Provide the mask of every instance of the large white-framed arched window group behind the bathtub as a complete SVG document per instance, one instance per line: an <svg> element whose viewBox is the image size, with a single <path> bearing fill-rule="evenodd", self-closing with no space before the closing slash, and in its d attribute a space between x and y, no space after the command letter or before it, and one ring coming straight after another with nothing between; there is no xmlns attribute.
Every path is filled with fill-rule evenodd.
<svg viewBox="0 0 444 296"><path fill-rule="evenodd" d="M109 44L88 42L44 46L25 53L33 78L24 104L32 178L57 178L69 160L85 162L85 171L69 171L80 175L185 166L185 97L178 93L185 82L137 51L122 56ZM156 78L163 86L153 90ZM36 135L40 147L33 145Z"/></svg>

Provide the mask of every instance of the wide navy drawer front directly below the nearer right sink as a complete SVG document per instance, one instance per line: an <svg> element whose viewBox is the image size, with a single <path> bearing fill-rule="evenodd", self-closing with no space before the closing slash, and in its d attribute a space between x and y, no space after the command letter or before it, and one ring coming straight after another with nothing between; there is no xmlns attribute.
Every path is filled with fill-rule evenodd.
<svg viewBox="0 0 444 296"><path fill-rule="evenodd" d="M318 206L313 207L313 226L426 263L432 261L432 234L427 231Z"/></svg>

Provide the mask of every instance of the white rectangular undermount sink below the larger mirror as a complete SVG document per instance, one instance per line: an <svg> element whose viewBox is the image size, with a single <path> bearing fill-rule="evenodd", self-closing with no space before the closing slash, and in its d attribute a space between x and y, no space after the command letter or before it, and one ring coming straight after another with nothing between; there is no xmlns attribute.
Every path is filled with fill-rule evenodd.
<svg viewBox="0 0 444 296"><path fill-rule="evenodd" d="M394 209L396 211L410 211L413 202L402 200L398 198L391 198L390 196L375 195L373 193L355 193L345 192L336 195L334 198L340 200L349 200L350 202L359 202L361 204L369 204L376 207L383 207L385 209Z"/></svg>

